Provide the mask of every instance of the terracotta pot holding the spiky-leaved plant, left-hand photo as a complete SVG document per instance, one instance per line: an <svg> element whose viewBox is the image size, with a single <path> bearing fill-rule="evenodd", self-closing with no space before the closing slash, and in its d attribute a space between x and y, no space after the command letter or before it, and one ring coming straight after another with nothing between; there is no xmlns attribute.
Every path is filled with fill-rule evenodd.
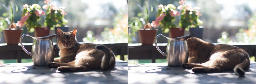
<svg viewBox="0 0 256 84"><path fill-rule="evenodd" d="M18 45L22 31L23 29L17 29L17 30L4 29L3 33L4 33L5 43L7 45Z"/></svg>

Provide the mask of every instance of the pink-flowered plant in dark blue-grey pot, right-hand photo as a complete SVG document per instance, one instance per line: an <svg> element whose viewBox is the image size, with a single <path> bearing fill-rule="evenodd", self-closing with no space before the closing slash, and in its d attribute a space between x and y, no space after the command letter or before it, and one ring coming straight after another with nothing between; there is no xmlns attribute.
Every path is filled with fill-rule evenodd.
<svg viewBox="0 0 256 84"><path fill-rule="evenodd" d="M195 35L195 37L203 37L204 27L199 26L202 21L199 20L199 16L202 14L199 11L199 7L192 8L190 5L185 5L185 1L181 0L179 2L180 6L177 9L181 10L180 13L180 26L189 30L190 34Z"/></svg>

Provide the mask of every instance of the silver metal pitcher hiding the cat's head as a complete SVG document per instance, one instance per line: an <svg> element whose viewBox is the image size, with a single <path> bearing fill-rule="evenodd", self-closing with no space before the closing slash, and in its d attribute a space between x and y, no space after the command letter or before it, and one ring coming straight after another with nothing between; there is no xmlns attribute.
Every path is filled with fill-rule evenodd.
<svg viewBox="0 0 256 84"><path fill-rule="evenodd" d="M157 46L157 38L163 36L168 39L166 53L162 52ZM163 34L158 34L155 38L156 49L166 57L168 66L180 67L181 64L188 62L187 39L194 35L185 35L177 38L169 38Z"/></svg>

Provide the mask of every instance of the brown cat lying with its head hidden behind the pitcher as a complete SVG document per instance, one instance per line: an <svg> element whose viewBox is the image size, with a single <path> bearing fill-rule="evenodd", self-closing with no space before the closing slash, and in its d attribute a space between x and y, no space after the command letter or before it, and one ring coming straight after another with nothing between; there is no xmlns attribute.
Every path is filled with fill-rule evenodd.
<svg viewBox="0 0 256 84"><path fill-rule="evenodd" d="M238 47L214 45L196 37L189 38L187 43L189 60L182 64L182 68L192 68L195 73L233 69L238 76L244 76L244 70L250 68L248 53Z"/></svg>

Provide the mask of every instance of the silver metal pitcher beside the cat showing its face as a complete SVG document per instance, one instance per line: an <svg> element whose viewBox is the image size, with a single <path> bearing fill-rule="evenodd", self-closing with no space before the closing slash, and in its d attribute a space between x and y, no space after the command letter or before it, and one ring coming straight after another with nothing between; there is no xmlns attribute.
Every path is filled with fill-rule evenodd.
<svg viewBox="0 0 256 84"><path fill-rule="evenodd" d="M54 46L51 39L57 35L59 34L52 34L44 37L33 37L28 34L23 34L20 37L20 45L22 49L32 57L33 64L35 66L46 66L47 63L53 62L54 60ZM22 44L22 38L24 36L29 36L34 39L31 52L28 52Z"/></svg>

